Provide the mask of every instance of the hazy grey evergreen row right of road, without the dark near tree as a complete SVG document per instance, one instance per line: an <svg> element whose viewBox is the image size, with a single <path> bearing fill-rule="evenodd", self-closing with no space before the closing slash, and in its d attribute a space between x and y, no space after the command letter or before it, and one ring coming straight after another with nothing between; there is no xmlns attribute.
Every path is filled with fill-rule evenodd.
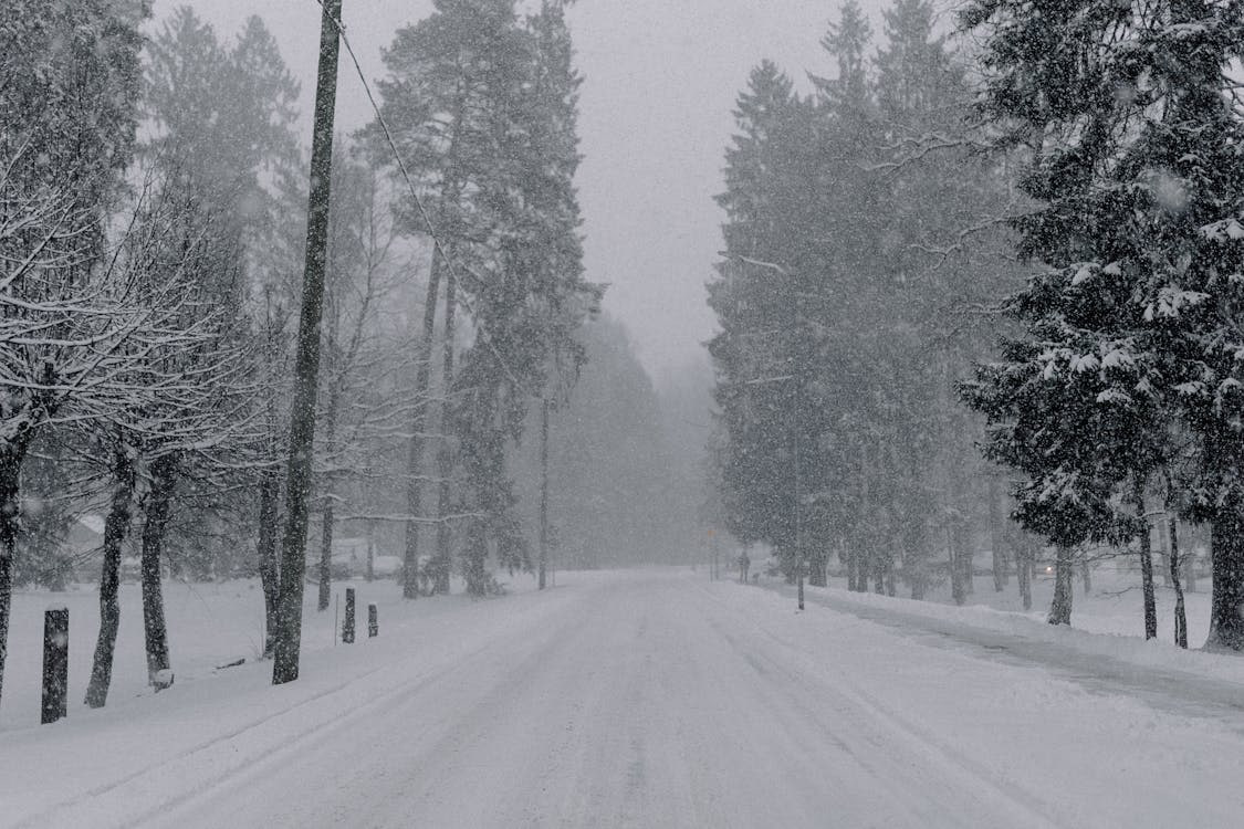
<svg viewBox="0 0 1244 829"><path fill-rule="evenodd" d="M954 384L986 353L984 309L1015 278L988 226L1005 168L958 139L968 67L933 7L899 0L884 42L853 2L821 41L811 94L769 61L739 96L728 221L709 303L720 411L713 451L728 529L794 578L922 598L970 589L991 492ZM931 137L935 152L917 153ZM950 566L945 569L939 563Z"/></svg>

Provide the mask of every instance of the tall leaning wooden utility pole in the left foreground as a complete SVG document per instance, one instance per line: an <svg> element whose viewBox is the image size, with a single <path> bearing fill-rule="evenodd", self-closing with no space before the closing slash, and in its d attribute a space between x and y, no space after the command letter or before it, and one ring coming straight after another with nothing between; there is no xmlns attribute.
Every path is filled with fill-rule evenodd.
<svg viewBox="0 0 1244 829"><path fill-rule="evenodd" d="M320 71L311 135L311 195L307 204L306 270L299 318L290 415L290 460L286 479L285 529L281 544L281 598L277 610L272 685L299 677L302 648L302 582L306 574L307 495L315 439L315 398L320 379L320 319L328 247L328 195L332 180L332 121L337 97L341 0L323 0L320 21Z"/></svg>

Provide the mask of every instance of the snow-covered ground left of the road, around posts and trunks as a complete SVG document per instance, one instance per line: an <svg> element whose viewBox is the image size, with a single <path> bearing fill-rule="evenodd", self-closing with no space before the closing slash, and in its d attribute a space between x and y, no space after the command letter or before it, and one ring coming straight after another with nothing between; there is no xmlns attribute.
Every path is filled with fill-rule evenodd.
<svg viewBox="0 0 1244 829"><path fill-rule="evenodd" d="M530 582L514 579L511 595L495 600L476 602L459 593L413 603L403 602L392 582L352 582L348 587L358 592L363 616L361 635L350 646L333 644L333 610L317 613L309 589L301 676L280 687L271 685L271 662L254 659L262 609L258 584L169 583L177 682L160 694L144 689L142 613L137 592L126 590L107 707L92 711L81 705L95 619L83 624L90 614L80 613L77 628L71 629L70 715L49 726L14 722L19 713L26 723L39 721L37 694L22 687L34 679L31 648L25 638L15 638L22 646L11 654L21 665L12 685L22 692L12 695L9 725L0 735L5 769L0 827L131 820L142 814L144 803L164 805L168 792L180 790L187 776L205 784L310 732L347 723L414 679L452 669L465 655L504 639L515 618L539 616L559 604L556 597L532 602ZM70 599L72 618L77 597L56 595L57 602L62 598ZM19 611L41 616L46 599L27 593L15 604ZM376 639L367 636L368 603L379 605ZM412 653L418 659L412 660ZM244 665L216 670L240 656L248 657Z"/></svg>

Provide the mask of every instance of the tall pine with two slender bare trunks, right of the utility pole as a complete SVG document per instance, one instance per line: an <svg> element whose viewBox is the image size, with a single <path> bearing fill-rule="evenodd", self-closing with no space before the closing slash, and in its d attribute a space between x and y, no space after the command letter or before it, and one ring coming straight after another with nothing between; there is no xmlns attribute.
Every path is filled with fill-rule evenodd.
<svg viewBox="0 0 1244 829"><path fill-rule="evenodd" d="M388 126L406 167L413 175L427 210L413 199L397 205L401 226L409 234L434 232L423 336L417 355L415 394L428 396L432 383L435 308L444 282L442 389L448 395L454 379L454 337L459 285L493 261L499 227L496 208L508 195L508 179L499 163L511 107L522 97L527 80L527 44L513 0L438 0L435 11L414 26L397 32L384 52L389 78L381 82L381 116ZM378 124L368 131L377 158L387 144ZM398 174L394 170L394 174ZM407 183L399 176L399 189ZM430 227L429 227L430 220ZM466 297L468 305L470 297ZM442 431L452 428L448 399L442 403ZM406 595L418 594L418 523L422 512L420 479L428 413L417 408L411 428L409 521L406 536ZM437 454L438 515L450 511L452 447L442 441ZM452 529L448 520L437 526L435 589L449 589Z"/></svg>

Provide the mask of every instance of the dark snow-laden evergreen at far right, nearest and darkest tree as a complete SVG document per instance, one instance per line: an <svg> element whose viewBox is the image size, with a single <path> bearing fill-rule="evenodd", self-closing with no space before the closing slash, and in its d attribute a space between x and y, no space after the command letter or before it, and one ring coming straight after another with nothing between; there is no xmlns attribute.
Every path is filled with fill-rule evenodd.
<svg viewBox="0 0 1244 829"><path fill-rule="evenodd" d="M1227 80L1240 11L990 0L963 24L984 36L980 113L1029 154L1020 181L1037 205L1015 222L1020 254L1044 266L1009 303L1024 336L972 392L993 408L999 456L1057 449L1034 459L1020 517L1067 541L1117 523L1110 495L1143 502L1174 409L1195 439L1189 512L1214 528L1208 644L1244 648L1232 322L1244 178Z"/></svg>

